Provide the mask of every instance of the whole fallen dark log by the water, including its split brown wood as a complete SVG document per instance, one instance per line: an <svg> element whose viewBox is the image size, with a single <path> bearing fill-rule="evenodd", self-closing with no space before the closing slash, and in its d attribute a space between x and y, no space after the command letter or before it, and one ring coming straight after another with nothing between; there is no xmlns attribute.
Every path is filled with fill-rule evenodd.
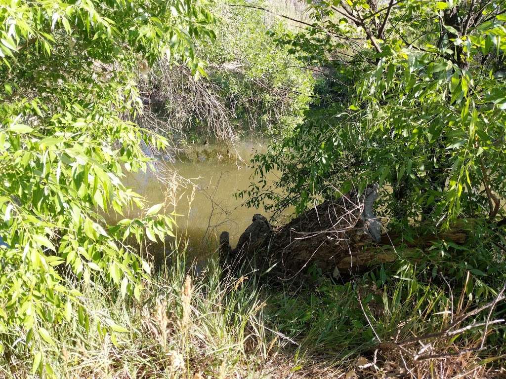
<svg viewBox="0 0 506 379"><path fill-rule="evenodd" d="M282 279L295 277L311 266L339 277L374 264L393 262L398 257L392 247L396 236L381 234L382 225L373 210L376 197L375 185L366 188L362 196L352 191L339 200L325 201L276 229L264 216L256 214L235 249L229 246L228 232L222 233L222 261L234 271L258 270ZM467 235L452 232L419 238L407 244L407 249L430 246L442 237L463 243Z"/></svg>

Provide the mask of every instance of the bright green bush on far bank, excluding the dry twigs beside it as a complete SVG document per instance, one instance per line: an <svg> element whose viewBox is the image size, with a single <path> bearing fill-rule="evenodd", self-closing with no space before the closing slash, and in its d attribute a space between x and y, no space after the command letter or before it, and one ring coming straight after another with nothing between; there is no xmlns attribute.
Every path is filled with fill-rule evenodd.
<svg viewBox="0 0 506 379"><path fill-rule="evenodd" d="M265 12L244 7L268 7L266 3L218 3L217 40L202 46L202 55L210 65L220 66L210 70L209 77L219 84L236 122L271 132L290 131L311 101L314 81L287 48L276 44L273 33L284 33L286 23L270 23Z"/></svg>

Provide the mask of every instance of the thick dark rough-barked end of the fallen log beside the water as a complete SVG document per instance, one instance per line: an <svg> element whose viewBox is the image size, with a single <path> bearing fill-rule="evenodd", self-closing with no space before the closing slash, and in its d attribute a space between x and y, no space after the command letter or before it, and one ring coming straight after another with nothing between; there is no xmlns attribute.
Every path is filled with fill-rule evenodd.
<svg viewBox="0 0 506 379"><path fill-rule="evenodd" d="M235 249L226 248L228 242L222 235L222 256L233 269L246 266L271 270L286 278L310 265L332 273L344 258L362 250L356 244L376 243L381 239L381 225L372 209L376 196L376 186L367 188L363 196L352 191L339 200L309 209L276 229L257 214Z"/></svg>

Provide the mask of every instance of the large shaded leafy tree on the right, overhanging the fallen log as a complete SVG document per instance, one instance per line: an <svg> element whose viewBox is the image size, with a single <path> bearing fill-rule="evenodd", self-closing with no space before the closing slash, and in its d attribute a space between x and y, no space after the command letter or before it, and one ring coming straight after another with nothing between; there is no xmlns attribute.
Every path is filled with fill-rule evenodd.
<svg viewBox="0 0 506 379"><path fill-rule="evenodd" d="M254 158L260 180L241 195L302 212L378 182L393 221L496 220L506 195L503 15L472 2L409 1L377 13L374 4L315 4L310 33L280 36L325 70L328 89L293 136ZM264 180L274 169L286 197Z"/></svg>

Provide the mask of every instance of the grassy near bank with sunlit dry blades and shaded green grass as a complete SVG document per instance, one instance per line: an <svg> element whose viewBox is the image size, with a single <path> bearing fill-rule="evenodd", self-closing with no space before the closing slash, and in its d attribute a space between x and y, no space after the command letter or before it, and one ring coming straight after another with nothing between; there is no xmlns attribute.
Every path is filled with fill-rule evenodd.
<svg viewBox="0 0 506 379"><path fill-rule="evenodd" d="M311 284L273 287L251 275L226 274L213 261L196 274L173 257L170 267L144 282L139 301L121 298L115 288L81 288L85 326L78 322L80 314L57 326L45 325L57 341L44 354L56 376L499 375L503 332L490 325L483 340L483 325L473 325L487 318L490 307L469 316L476 302L470 293L458 293L476 281L472 274L464 286L451 288L444 280L421 281L420 272L406 263L397 277L369 273L338 284L314 273L307 281ZM490 294L492 301L496 296ZM114 333L104 320L113 320ZM437 336L425 338L431 334ZM4 354L0 377L30 377L31 367L32 359L23 351Z"/></svg>

